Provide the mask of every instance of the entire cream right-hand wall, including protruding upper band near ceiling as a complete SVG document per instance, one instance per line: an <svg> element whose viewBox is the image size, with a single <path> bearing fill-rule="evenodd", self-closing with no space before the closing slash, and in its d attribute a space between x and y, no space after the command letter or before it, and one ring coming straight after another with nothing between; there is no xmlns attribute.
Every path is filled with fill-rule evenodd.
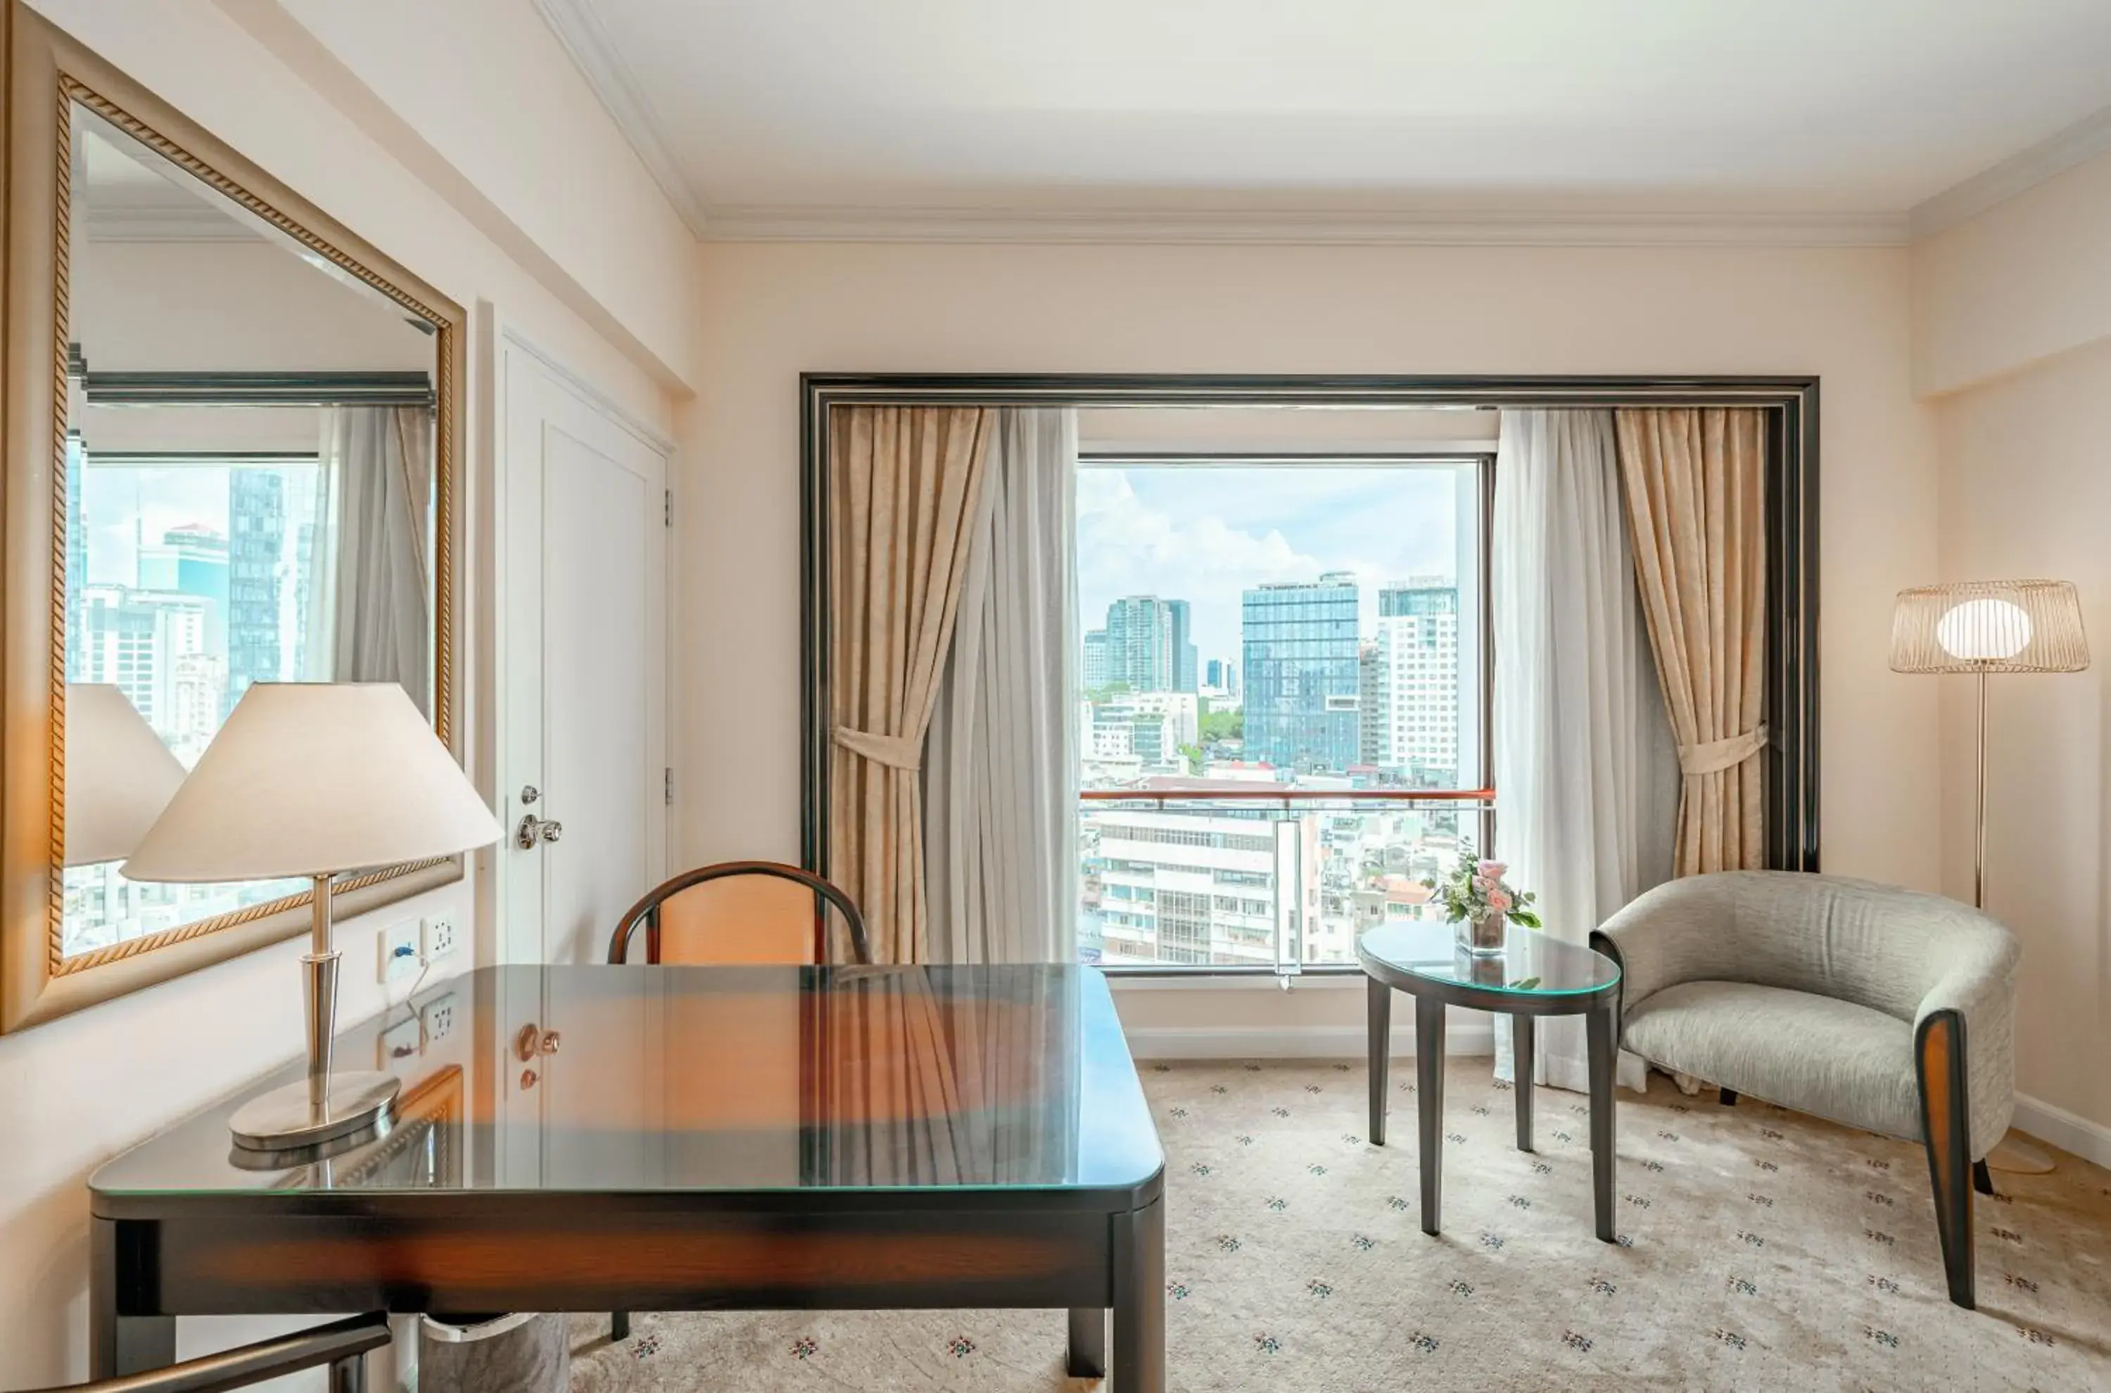
<svg viewBox="0 0 2111 1393"><path fill-rule="evenodd" d="M1986 908L2022 941L2018 1119L2111 1163L2111 154L1915 249L1915 371L1940 393L1940 568L2081 591L2098 667L1995 678ZM1944 891L1972 895L1974 692L1942 688Z"/></svg>

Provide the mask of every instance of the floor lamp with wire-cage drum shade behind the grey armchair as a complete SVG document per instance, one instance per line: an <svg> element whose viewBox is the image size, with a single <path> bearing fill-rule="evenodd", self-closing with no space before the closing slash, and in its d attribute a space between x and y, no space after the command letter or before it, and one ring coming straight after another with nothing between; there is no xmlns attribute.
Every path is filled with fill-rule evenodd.
<svg viewBox="0 0 2111 1393"><path fill-rule="evenodd" d="M1955 580L1898 593L1891 671L1978 678L1978 796L1972 813L1972 905L1986 908L1986 678L2077 673L2090 665L2081 599L2067 580ZM1989 1165L2043 1173L2052 1157L2001 1142Z"/></svg>

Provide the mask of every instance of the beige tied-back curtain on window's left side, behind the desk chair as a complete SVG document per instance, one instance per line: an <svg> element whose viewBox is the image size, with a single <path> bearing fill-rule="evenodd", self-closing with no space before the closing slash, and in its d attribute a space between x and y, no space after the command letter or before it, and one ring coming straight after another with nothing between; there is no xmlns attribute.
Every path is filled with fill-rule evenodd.
<svg viewBox="0 0 2111 1393"><path fill-rule="evenodd" d="M925 962L923 764L996 412L830 418L828 876L874 962Z"/></svg>

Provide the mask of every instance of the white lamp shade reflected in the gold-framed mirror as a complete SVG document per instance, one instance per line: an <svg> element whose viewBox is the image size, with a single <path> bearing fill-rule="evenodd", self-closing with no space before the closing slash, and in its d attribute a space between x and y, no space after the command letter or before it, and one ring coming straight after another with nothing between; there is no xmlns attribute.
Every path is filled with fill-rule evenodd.
<svg viewBox="0 0 2111 1393"><path fill-rule="evenodd" d="M184 783L184 766L114 686L65 686L65 863L133 853Z"/></svg>

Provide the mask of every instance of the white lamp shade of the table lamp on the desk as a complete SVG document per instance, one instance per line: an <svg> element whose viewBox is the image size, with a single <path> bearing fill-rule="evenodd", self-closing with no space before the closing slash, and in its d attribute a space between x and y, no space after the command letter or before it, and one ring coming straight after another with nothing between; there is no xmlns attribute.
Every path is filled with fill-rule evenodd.
<svg viewBox="0 0 2111 1393"><path fill-rule="evenodd" d="M448 857L498 819L395 682L260 682L125 863L131 880L270 880Z"/></svg>

